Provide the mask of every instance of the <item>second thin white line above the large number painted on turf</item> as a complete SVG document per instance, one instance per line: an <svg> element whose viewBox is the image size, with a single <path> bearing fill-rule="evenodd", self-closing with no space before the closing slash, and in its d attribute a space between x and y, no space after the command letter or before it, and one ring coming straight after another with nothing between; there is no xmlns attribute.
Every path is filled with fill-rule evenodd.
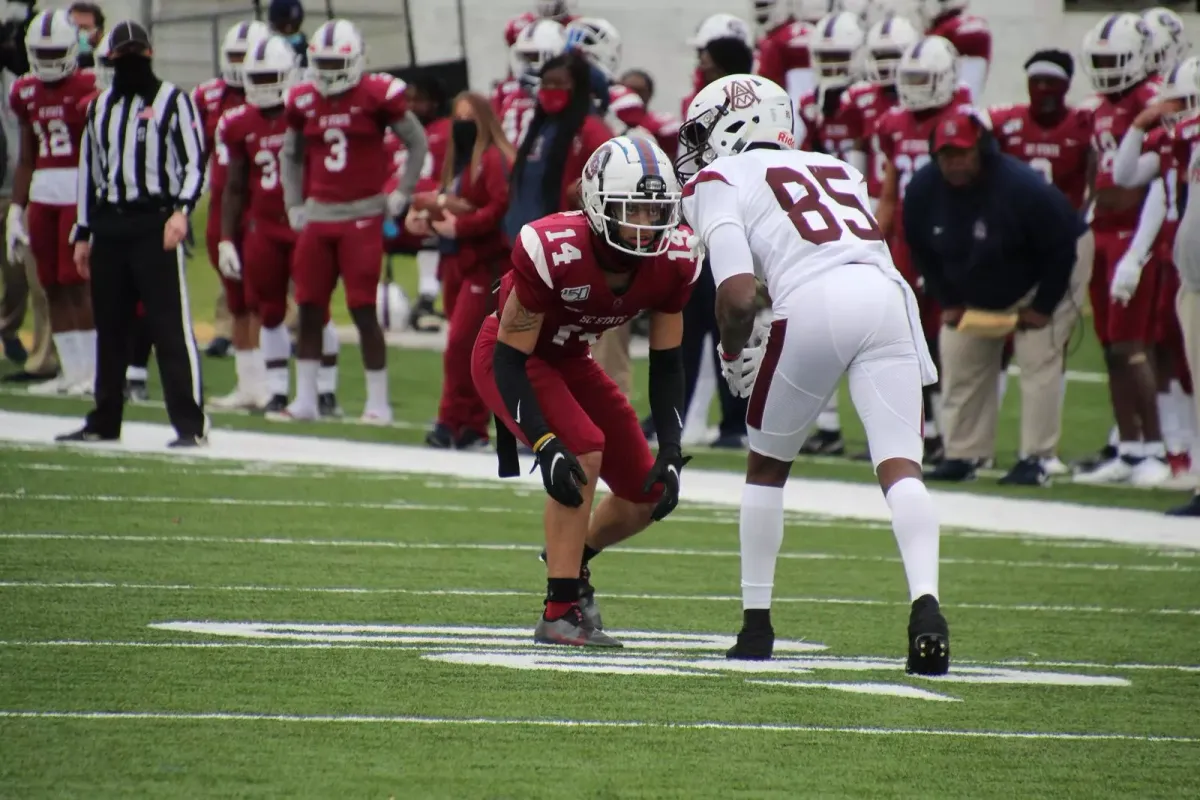
<svg viewBox="0 0 1200 800"><path fill-rule="evenodd" d="M4 495L0 495L2 498ZM391 506L388 506L389 509ZM401 511L412 506L401 506ZM805 524L805 523L802 523ZM485 551L539 553L540 545L522 545L516 542L400 542L370 539L288 539L288 537L244 537L244 536L150 536L142 534L56 534L56 533L2 533L0 541L73 541L73 542L122 542L133 545L257 545L264 547L319 547L319 548L364 548L397 551ZM605 551L610 555L665 555L671 558L740 558L738 551L690 549L673 547L613 547ZM779 558L797 561L851 561L863 564L901 564L898 557L888 555L851 555L846 553L780 553ZM961 566L1004 567L1019 570L1084 570L1093 572L1200 572L1200 567L1177 564L1106 564L1087 561L1012 561L1003 559L946 558L941 564Z"/></svg>

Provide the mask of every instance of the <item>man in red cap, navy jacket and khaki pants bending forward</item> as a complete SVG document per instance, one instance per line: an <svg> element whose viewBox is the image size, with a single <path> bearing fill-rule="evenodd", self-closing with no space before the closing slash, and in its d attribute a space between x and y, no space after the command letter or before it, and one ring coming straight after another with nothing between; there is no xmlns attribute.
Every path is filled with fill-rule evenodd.
<svg viewBox="0 0 1200 800"><path fill-rule="evenodd" d="M946 458L926 477L970 480L995 453L996 373L1015 330L1021 461L1002 482L1040 486L1042 459L1062 433L1064 350L1080 312L1068 288L1084 221L968 114L942 120L930 150L934 162L908 184L904 215L913 263L942 308Z"/></svg>

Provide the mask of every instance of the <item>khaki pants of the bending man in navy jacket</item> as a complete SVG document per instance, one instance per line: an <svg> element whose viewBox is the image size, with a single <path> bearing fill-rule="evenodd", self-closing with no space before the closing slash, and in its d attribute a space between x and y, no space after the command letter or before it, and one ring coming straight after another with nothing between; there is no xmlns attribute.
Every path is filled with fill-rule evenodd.
<svg viewBox="0 0 1200 800"><path fill-rule="evenodd" d="M1070 288L1050 324L1036 331L1018 331L1014 337L1013 360L1021 371L1021 456L1046 458L1058 449L1066 349L1087 295L1093 249L1091 234L1080 239ZM1018 307L1032 299L1033 293ZM938 344L946 457L991 458L996 455L996 375L1004 339L970 336L943 325Z"/></svg>

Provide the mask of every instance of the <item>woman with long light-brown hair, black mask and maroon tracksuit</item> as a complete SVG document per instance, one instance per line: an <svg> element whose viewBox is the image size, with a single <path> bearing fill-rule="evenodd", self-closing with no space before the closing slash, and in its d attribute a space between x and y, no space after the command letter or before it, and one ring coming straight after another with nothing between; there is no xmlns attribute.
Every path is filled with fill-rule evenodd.
<svg viewBox="0 0 1200 800"><path fill-rule="evenodd" d="M515 158L487 98L458 95L438 191L414 196L406 219L413 233L438 236L442 301L450 323L438 419L425 437L431 447L481 450L488 444L492 415L470 377L470 351L484 320L496 312L492 287L510 267L499 223L509 209Z"/></svg>

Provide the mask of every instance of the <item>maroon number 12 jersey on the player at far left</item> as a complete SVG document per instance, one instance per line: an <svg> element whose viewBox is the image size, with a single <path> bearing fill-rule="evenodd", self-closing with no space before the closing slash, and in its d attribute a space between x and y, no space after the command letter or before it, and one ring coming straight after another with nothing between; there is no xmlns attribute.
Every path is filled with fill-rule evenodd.
<svg viewBox="0 0 1200 800"><path fill-rule="evenodd" d="M79 140L88 121L88 107L79 101L95 90L95 78L83 72L73 72L54 83L32 74L13 82L8 107L34 130L37 139L34 180L29 187L29 199L34 203L74 205Z"/></svg>

